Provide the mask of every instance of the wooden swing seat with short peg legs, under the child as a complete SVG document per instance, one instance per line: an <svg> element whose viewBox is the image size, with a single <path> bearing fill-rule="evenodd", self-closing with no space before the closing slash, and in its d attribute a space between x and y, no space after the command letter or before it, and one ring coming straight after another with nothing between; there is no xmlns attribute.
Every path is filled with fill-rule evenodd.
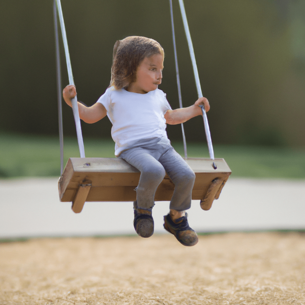
<svg viewBox="0 0 305 305"><path fill-rule="evenodd" d="M188 158L196 174L192 199L209 210L218 199L231 170L224 159ZM212 164L216 163L217 169ZM80 213L86 201L135 201L140 172L120 158L70 158L58 181L61 202L72 202ZM174 184L166 174L157 188L155 201L170 201Z"/></svg>

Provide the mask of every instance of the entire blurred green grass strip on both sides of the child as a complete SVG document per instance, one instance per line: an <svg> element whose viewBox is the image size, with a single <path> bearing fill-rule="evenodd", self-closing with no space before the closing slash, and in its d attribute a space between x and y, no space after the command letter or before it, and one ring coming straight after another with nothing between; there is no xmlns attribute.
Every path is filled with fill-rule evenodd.
<svg viewBox="0 0 305 305"><path fill-rule="evenodd" d="M60 175L57 137L0 134L0 178ZM172 143L183 155L182 143ZM84 139L86 157L114 157L112 139ZM305 179L305 148L214 145L232 177ZM79 157L76 138L64 139L64 164ZM188 157L209 157L205 143L188 143Z"/></svg>

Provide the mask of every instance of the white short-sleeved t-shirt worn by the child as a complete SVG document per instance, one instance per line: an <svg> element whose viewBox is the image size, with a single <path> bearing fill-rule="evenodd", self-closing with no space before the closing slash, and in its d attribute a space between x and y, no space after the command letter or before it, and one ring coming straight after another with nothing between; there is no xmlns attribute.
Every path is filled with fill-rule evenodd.
<svg viewBox="0 0 305 305"><path fill-rule="evenodd" d="M108 88L98 99L112 123L115 155L143 139L166 137L164 114L171 109L165 93L156 89L146 94Z"/></svg>

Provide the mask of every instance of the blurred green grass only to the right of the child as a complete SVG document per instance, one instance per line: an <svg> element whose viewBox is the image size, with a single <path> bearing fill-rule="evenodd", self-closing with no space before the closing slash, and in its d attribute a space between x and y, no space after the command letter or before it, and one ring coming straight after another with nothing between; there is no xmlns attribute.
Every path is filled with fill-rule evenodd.
<svg viewBox="0 0 305 305"><path fill-rule="evenodd" d="M173 145L182 155L182 144ZM224 158L231 177L305 178L305 148L213 145L215 158ZM206 145L188 145L188 156L209 157Z"/></svg>

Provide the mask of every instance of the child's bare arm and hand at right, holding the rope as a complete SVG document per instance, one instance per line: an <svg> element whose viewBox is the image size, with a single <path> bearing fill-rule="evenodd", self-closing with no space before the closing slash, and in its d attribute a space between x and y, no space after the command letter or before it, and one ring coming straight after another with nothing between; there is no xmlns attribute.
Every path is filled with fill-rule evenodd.
<svg viewBox="0 0 305 305"><path fill-rule="evenodd" d="M170 125L181 124L188 121L192 117L202 115L201 108L199 107L200 105L204 106L206 112L210 110L209 101L205 97L201 97L192 106L167 110L167 112L164 114L166 123Z"/></svg>

